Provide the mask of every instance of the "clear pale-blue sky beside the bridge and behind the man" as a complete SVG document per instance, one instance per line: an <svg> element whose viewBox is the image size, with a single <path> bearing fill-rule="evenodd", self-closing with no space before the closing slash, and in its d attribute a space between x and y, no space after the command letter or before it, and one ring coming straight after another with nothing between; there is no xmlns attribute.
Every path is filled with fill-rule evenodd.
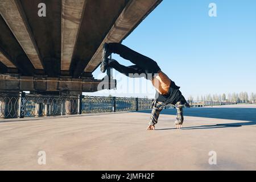
<svg viewBox="0 0 256 182"><path fill-rule="evenodd" d="M216 3L217 17L208 15L209 3ZM186 98L209 93L256 92L255 0L164 0L123 44L154 59L162 71L181 86ZM131 65L117 55L113 58L123 65ZM93 75L104 76L99 69ZM118 86L123 85L123 79L127 78L118 80L115 91L85 94L147 95L127 92ZM137 82L150 85L142 78ZM127 87L139 85L133 82Z"/></svg>

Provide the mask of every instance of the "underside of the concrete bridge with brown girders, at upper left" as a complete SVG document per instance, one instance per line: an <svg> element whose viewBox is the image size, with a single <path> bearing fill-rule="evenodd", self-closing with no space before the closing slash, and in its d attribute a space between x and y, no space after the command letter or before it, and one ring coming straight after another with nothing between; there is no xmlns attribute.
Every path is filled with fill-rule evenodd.
<svg viewBox="0 0 256 182"><path fill-rule="evenodd" d="M161 1L1 0L0 90L97 91L102 45L122 42Z"/></svg>

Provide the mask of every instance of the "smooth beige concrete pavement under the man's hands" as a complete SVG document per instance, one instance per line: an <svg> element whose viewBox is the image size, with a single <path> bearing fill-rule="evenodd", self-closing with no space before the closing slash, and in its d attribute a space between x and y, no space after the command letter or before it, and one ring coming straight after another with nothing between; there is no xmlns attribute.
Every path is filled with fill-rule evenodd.
<svg viewBox="0 0 256 182"><path fill-rule="evenodd" d="M0 123L0 169L256 169L256 125L248 121L185 117L176 130L175 115L162 114L156 130L146 131L149 117L115 113ZM39 151L46 152L46 165L38 164ZM210 151L216 165L208 162Z"/></svg>

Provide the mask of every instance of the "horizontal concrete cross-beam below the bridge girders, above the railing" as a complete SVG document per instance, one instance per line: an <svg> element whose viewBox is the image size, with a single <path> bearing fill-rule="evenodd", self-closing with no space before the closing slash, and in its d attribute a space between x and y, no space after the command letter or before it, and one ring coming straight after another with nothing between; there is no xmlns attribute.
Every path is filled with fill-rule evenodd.
<svg viewBox="0 0 256 182"><path fill-rule="evenodd" d="M55 92L68 95L77 95L82 92L96 92L109 89L109 80L96 80L94 78L49 78L24 77L19 75L0 75L0 88L8 92L14 90L31 92ZM110 80L111 88L115 88L116 81Z"/></svg>

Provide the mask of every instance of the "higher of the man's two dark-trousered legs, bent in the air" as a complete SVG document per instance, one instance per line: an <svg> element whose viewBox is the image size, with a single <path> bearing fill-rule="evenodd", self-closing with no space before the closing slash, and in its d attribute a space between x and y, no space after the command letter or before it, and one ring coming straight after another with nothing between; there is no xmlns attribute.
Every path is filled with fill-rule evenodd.
<svg viewBox="0 0 256 182"><path fill-rule="evenodd" d="M130 60L131 63L138 65L138 67L142 68L146 74L154 74L160 72L160 68L154 60L150 59L149 57L143 56L140 53L135 52L126 46L123 46L122 44L109 43L108 49L108 54L117 53L124 59Z"/></svg>

